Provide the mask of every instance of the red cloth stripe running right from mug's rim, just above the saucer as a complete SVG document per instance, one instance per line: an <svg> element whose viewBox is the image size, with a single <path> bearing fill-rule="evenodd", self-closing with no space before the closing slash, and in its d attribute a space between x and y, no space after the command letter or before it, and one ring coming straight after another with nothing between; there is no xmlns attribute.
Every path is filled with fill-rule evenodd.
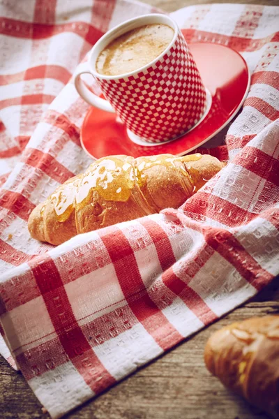
<svg viewBox="0 0 279 419"><path fill-rule="evenodd" d="M250 39L241 36L228 36L216 34L215 32L199 31L197 29L182 29L183 36L188 43L209 42L227 45L236 51L252 52L262 48L266 43L275 42L278 35L269 35L264 38Z"/></svg>

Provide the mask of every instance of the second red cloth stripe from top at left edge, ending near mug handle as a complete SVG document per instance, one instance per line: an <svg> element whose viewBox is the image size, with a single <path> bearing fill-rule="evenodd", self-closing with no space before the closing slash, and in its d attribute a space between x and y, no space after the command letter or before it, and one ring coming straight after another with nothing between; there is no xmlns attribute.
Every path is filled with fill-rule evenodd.
<svg viewBox="0 0 279 419"><path fill-rule="evenodd" d="M27 68L20 73L0 75L0 86L21 82L22 80L35 80L39 78L52 78L66 84L70 80L70 72L61 66L43 65Z"/></svg>

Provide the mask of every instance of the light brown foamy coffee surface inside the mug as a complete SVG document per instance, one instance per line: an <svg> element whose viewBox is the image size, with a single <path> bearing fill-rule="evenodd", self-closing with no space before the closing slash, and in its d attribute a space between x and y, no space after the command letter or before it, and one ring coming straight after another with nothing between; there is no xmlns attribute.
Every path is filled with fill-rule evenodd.
<svg viewBox="0 0 279 419"><path fill-rule="evenodd" d="M103 75L130 73L156 59L172 42L167 24L146 24L114 39L100 52L96 71Z"/></svg>

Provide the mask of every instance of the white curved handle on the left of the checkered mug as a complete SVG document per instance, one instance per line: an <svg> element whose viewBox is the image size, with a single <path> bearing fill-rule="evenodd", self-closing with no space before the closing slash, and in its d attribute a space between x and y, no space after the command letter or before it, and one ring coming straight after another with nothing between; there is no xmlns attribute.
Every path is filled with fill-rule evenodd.
<svg viewBox="0 0 279 419"><path fill-rule="evenodd" d="M88 61L79 64L73 75L75 80L75 88L77 89L78 94L80 94L84 101L89 103L89 105L93 105L96 108L105 110L106 112L114 112L114 108L112 108L112 105L110 105L108 101L100 98L96 94L93 94L89 89L87 89L85 84L82 82L82 79L80 78L80 76L84 73L89 73L92 75Z"/></svg>

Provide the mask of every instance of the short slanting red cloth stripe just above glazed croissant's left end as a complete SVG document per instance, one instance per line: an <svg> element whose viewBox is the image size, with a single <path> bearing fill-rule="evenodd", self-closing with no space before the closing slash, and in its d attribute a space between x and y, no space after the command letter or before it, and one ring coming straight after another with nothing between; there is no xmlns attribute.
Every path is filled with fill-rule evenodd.
<svg viewBox="0 0 279 419"><path fill-rule="evenodd" d="M70 170L54 159L53 156L43 153L38 149L26 149L22 159L29 166L43 170L46 175L61 184L70 179L70 177L75 176L73 172L70 172Z"/></svg>

